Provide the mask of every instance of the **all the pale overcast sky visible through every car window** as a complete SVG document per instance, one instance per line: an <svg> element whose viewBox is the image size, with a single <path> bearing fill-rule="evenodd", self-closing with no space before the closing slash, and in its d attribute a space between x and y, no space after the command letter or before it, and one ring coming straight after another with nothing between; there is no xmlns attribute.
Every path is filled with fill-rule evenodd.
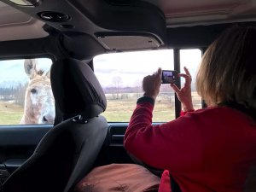
<svg viewBox="0 0 256 192"><path fill-rule="evenodd" d="M200 61L199 49L181 51L181 66L189 68L193 79ZM27 82L23 63L24 60L0 61L0 87ZM51 60L38 59L38 64L38 68L48 71ZM97 55L94 65L102 87L113 86L116 77L121 78L122 86L136 86L141 84L144 76L154 73L158 67L173 70L173 51L166 49Z"/></svg>

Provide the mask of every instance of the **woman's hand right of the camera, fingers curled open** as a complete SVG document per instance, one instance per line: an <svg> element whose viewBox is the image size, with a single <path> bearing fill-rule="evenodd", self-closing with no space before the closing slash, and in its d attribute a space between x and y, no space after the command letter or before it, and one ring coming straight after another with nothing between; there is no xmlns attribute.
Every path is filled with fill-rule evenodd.
<svg viewBox="0 0 256 192"><path fill-rule="evenodd" d="M187 67L184 67L184 73L177 74L178 77L185 79L183 88L178 89L176 84L171 84L172 89L176 92L178 100L182 103L183 112L194 110L191 96L191 75Z"/></svg>

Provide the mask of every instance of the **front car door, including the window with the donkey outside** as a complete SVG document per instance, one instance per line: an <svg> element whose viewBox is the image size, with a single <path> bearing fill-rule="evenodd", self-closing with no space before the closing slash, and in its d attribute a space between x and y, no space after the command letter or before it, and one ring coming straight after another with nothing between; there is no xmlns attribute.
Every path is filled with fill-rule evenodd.
<svg viewBox="0 0 256 192"><path fill-rule="evenodd" d="M37 147L53 126L49 58L0 61L0 181Z"/></svg>

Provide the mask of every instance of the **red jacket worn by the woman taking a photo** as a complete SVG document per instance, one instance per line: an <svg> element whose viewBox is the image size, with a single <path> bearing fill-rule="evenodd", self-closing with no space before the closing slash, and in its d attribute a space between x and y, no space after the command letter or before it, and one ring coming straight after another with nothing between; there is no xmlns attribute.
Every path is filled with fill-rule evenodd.
<svg viewBox="0 0 256 192"><path fill-rule="evenodd" d="M152 125L154 104L138 102L125 132L125 148L149 166L169 172L183 192L243 191L256 163L256 123L233 108L207 108Z"/></svg>

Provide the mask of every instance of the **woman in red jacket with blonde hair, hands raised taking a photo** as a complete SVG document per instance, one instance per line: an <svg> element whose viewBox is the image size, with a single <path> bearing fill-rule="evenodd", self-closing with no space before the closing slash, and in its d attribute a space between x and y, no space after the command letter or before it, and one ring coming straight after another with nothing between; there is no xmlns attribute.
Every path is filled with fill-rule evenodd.
<svg viewBox="0 0 256 192"><path fill-rule="evenodd" d="M235 27L224 32L203 55L196 77L208 108L195 111L191 77L179 74L182 89L171 84L181 117L152 125L161 70L143 79L144 96L125 133L125 148L149 166L165 170L160 192L175 181L183 192L244 191L256 164L256 29ZM171 181L170 181L171 177ZM256 183L255 183L256 185Z"/></svg>

